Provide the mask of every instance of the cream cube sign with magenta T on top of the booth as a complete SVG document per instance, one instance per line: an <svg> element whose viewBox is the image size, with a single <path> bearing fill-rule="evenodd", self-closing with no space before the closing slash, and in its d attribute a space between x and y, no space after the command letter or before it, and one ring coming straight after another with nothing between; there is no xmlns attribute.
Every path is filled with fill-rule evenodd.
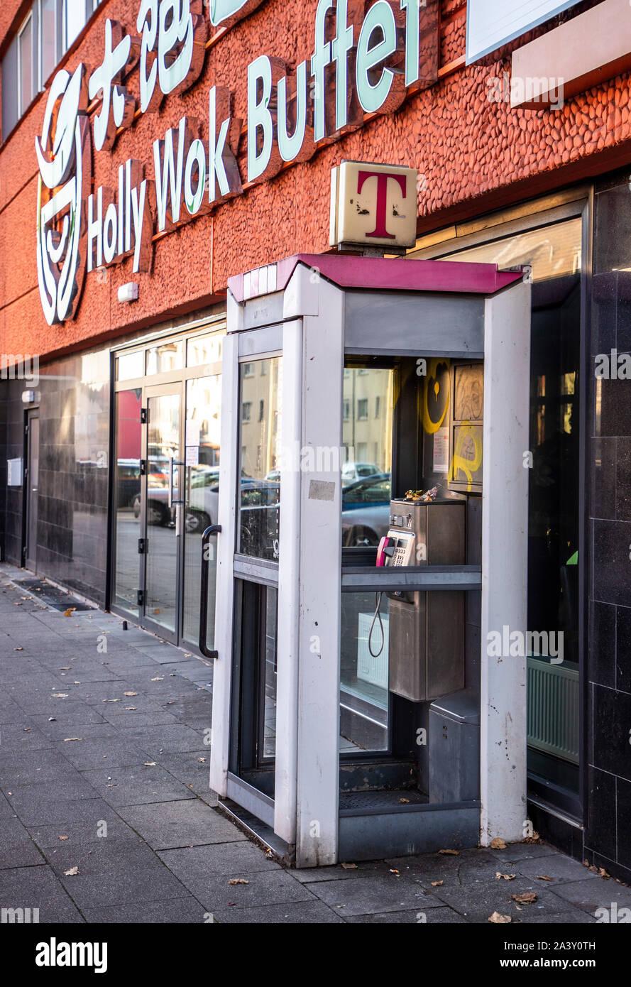
<svg viewBox="0 0 631 987"><path fill-rule="evenodd" d="M343 161L331 173L331 246L413 247L416 182L413 168Z"/></svg>

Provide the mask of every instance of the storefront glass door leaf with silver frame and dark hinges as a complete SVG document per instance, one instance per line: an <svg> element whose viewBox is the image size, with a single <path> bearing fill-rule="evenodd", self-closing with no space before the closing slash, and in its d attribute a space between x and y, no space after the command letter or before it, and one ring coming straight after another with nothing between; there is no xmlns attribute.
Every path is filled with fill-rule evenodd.
<svg viewBox="0 0 631 987"><path fill-rule="evenodd" d="M181 385L147 388L143 626L177 643L182 536Z"/></svg>

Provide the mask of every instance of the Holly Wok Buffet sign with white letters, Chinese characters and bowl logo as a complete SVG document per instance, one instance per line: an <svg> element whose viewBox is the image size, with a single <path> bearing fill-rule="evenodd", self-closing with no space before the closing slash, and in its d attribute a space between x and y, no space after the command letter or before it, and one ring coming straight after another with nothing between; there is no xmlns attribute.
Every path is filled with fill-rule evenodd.
<svg viewBox="0 0 631 987"><path fill-rule="evenodd" d="M204 67L212 29L232 28L263 3L140 0L131 32L105 21L101 65L89 71L82 63L53 78L35 137L37 277L49 325L76 316L86 272L124 258L132 259L134 273L149 270L156 234L307 161L318 147L367 117L393 113L408 92L436 81L436 0L314 0L311 58L294 71L276 56L251 61L245 113L213 80L205 124L182 115L154 141L153 169L130 158L117 167L113 188L93 189L93 145L111 151L142 114L189 89ZM127 88L135 70L138 98Z"/></svg>

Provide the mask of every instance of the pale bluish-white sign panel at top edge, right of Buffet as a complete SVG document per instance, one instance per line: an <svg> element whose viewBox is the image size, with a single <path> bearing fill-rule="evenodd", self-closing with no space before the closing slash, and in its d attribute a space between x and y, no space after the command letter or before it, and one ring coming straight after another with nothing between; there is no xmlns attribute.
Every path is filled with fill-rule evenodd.
<svg viewBox="0 0 631 987"><path fill-rule="evenodd" d="M468 0L466 64L526 35L532 28L576 6L579 0Z"/></svg>

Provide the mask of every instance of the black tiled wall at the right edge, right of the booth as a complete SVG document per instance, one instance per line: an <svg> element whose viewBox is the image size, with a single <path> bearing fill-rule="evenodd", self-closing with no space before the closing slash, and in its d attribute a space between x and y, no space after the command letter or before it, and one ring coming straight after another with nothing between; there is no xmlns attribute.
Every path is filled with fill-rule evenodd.
<svg viewBox="0 0 631 987"><path fill-rule="evenodd" d="M596 189L592 353L631 352L630 176ZM631 380L589 375L585 854L631 882Z"/></svg>

